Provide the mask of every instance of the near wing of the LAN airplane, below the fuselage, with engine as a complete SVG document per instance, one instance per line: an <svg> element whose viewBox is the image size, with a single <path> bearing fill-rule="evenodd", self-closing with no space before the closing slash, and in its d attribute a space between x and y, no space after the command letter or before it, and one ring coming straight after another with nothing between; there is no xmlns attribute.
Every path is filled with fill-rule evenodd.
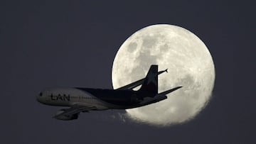
<svg viewBox="0 0 256 144"><path fill-rule="evenodd" d="M92 109L95 109L95 106L88 107L88 106L79 106L73 105L68 109L60 109L60 112L56 113L53 118L62 119L62 120L71 120L76 119L80 112L88 112ZM77 116L74 118L74 116Z"/></svg>

